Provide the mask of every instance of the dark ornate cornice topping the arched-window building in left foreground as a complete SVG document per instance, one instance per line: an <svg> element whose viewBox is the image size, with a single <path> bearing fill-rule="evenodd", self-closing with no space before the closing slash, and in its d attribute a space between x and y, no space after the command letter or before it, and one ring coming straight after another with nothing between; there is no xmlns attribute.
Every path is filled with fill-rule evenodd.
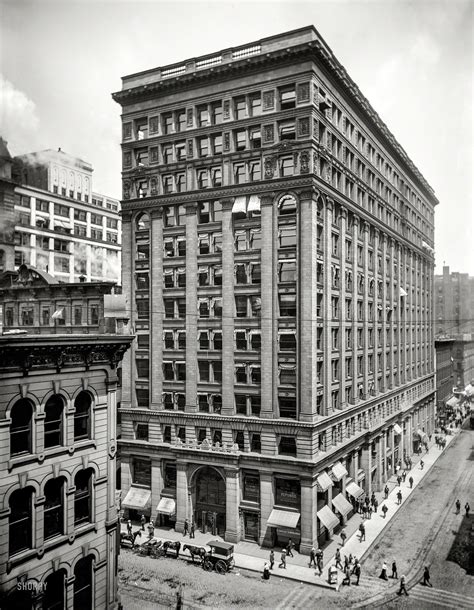
<svg viewBox="0 0 474 610"><path fill-rule="evenodd" d="M24 341L10 340L0 345L0 370L19 370L28 375L36 370L53 369L57 373L63 369L81 367L88 370L92 366L106 365L115 368L130 347L133 336L104 338L91 335L83 339L69 337L23 337ZM2 342L3 343L3 342Z"/></svg>

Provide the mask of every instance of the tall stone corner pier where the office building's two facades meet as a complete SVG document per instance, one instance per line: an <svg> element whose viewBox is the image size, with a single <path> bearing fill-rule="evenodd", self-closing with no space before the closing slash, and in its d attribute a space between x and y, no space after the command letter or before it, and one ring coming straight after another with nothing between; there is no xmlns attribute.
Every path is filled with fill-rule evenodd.
<svg viewBox="0 0 474 610"><path fill-rule="evenodd" d="M317 192L302 191L299 202L299 294L298 294L298 369L299 419L313 421L317 416L316 355L316 265L317 265Z"/></svg>

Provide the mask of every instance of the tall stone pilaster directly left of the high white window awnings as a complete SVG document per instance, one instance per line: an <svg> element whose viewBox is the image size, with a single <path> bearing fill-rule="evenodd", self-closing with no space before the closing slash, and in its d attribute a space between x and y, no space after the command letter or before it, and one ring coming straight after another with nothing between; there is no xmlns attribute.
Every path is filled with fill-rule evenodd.
<svg viewBox="0 0 474 610"><path fill-rule="evenodd" d="M222 415L233 415L234 407L234 199L222 204Z"/></svg>

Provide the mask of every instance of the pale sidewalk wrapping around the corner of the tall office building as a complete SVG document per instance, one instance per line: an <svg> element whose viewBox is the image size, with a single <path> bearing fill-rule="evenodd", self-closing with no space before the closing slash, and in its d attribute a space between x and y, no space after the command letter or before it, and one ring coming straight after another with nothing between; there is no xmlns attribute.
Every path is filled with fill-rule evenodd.
<svg viewBox="0 0 474 610"><path fill-rule="evenodd" d="M456 433L455 433L456 434ZM449 435L446 438L446 448L449 447L449 444L454 439L454 435ZM420 456L413 456L413 468L410 471L407 471L407 477L405 483L401 484L401 491L403 495L402 504L403 506L406 499L410 497L413 493L414 489L418 486L420 481L423 480L426 473L429 472L436 462L438 457L443 453L443 450L440 450L433 443L429 448L428 453L422 453ZM421 470L419 466L420 460L424 462L424 468ZM413 489L410 489L410 484L408 479L410 476L413 477ZM371 519L363 519L362 515L355 514L345 526L345 531L347 534L347 540L344 547L341 547L340 537L339 535L335 536L331 542L324 548L324 568L321 576L317 576L314 568L309 568L309 557L307 555L300 555L296 550L293 550L294 558L288 557L286 562L286 569L278 568L278 564L280 563L280 552L281 549L276 548L275 551L275 565L272 570L274 577L287 578L290 580L295 580L301 583L313 584L319 587L327 588L327 589L335 589L335 585L329 585L327 582L327 574L328 568L335 563L335 553L338 547L341 548L341 555L344 559L344 555L349 556L352 553L353 556L356 556L359 560L363 558L365 553L369 550L372 544L375 542L377 537L380 535L384 527L390 522L393 516L400 509L400 506L397 504L397 481L396 476L392 476L387 485L390 489L389 496L387 500L384 499L383 492L376 493L377 500L379 501L379 509L377 513L372 513ZM380 507L382 504L385 504L389 509L387 512L387 517L384 519L382 513L380 511ZM360 542L358 528L361 522L364 522L366 539L364 542ZM137 523L134 523L134 530L140 527ZM146 529L146 526L145 526ZM121 530L123 532L127 531L126 524L121 523ZM144 542L148 539L148 532L145 531L141 538L141 542ZM159 528L155 527L155 539L158 540L179 540L182 545L185 544L193 544L196 546L205 546L211 540L223 540L220 536L213 536L210 533L203 534L200 531L196 531L195 538L190 539L189 536L183 537L183 535L179 532L175 532L174 529L170 528ZM138 539L140 540L140 539ZM251 570L255 572L262 572L263 565L266 561L268 561L270 549L262 549L257 544L251 542L238 542L234 545L234 559L235 559L235 568ZM181 547L181 556L182 558L186 558L188 556L188 552L186 551L183 554L183 549ZM189 556L190 558L190 556ZM363 574L362 574L363 577Z"/></svg>

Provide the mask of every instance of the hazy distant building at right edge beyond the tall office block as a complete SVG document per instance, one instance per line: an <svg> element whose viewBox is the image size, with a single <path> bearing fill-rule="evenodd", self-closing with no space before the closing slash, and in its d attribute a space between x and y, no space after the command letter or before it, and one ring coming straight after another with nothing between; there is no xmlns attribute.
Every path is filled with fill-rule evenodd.
<svg viewBox="0 0 474 610"><path fill-rule="evenodd" d="M435 275L434 286L436 336L474 333L474 277L444 266L443 275Z"/></svg>

